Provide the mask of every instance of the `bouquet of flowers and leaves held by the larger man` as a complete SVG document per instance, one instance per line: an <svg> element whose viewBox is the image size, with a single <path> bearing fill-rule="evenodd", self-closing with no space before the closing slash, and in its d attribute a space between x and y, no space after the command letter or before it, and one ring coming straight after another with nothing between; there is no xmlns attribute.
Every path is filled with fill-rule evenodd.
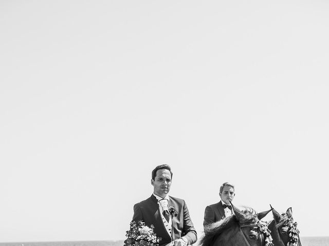
<svg viewBox="0 0 329 246"><path fill-rule="evenodd" d="M124 240L124 246L156 246L159 245L161 237L157 237L153 231L154 226L145 225L143 221L132 221L130 230L126 231L127 239Z"/></svg>

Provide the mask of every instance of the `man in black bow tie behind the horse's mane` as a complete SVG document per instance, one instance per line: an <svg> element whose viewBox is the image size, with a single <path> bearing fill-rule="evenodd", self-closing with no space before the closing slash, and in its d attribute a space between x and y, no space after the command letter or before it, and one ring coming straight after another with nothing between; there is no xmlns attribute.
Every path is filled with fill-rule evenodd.
<svg viewBox="0 0 329 246"><path fill-rule="evenodd" d="M229 182L223 183L220 188L221 201L211 204L205 209L204 229L213 222L219 221L232 214L230 201L235 196L234 185Z"/></svg>

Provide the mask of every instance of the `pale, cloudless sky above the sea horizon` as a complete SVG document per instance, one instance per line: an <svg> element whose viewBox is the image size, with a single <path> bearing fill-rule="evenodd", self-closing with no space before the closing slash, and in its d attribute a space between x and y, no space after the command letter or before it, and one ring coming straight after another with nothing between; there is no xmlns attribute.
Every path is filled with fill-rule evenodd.
<svg viewBox="0 0 329 246"><path fill-rule="evenodd" d="M318 0L0 1L0 242L124 239L162 163L199 237L225 181L329 236L328 27Z"/></svg>

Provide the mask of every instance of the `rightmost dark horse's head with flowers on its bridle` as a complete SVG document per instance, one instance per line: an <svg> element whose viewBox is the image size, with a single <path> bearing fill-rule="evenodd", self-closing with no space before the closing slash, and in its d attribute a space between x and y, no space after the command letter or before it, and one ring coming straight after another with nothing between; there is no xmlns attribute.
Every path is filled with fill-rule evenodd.
<svg viewBox="0 0 329 246"><path fill-rule="evenodd" d="M268 224L268 229L271 231L274 245L301 246L297 222L294 222L291 208L281 215L272 208L272 213L274 219Z"/></svg>

